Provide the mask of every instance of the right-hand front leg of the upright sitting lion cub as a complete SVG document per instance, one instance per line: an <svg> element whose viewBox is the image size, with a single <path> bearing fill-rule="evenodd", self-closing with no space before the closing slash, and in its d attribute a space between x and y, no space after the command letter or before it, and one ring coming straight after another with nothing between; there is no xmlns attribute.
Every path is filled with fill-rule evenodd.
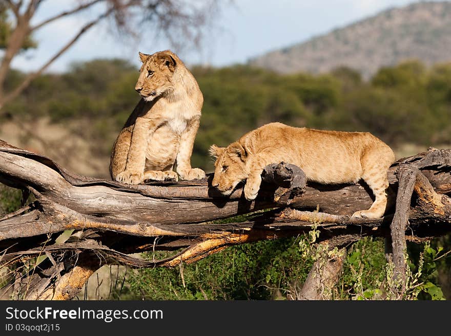
<svg viewBox="0 0 451 336"><path fill-rule="evenodd" d="M200 168L191 168L191 154L193 153L194 139L199 128L199 117L192 119L180 138L177 153L177 173L181 180L198 180L205 177L205 172Z"/></svg>

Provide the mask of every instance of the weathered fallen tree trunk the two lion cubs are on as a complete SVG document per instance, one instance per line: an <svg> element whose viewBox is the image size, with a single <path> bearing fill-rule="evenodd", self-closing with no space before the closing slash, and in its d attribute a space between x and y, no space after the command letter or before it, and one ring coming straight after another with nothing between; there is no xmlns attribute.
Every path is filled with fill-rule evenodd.
<svg viewBox="0 0 451 336"><path fill-rule="evenodd" d="M77 176L43 155L0 141L0 182L23 190L24 204L30 193L35 197L0 217L0 262L13 268L45 256L29 272L16 272L9 283L13 296L71 299L103 264L170 267L234 244L302 235L315 226L320 231L317 241L330 248L343 249L365 236L385 237L391 243L387 255L393 258L399 284L393 290L401 297L405 240L421 241L451 231L450 167L449 149L430 148L394 163L387 172L386 215L366 220L350 217L372 204L364 184L306 183L302 170L289 163L266 167L265 183L250 202L242 197L242 188L220 197L209 188L211 175L198 181L128 186ZM271 210L256 212L263 209ZM254 212L245 222L212 222ZM71 235L60 239L67 230L73 230ZM155 250L177 252L163 260L130 256ZM342 262L325 263L322 281L315 278L314 266L299 297L324 298L321 286L335 281Z"/></svg>

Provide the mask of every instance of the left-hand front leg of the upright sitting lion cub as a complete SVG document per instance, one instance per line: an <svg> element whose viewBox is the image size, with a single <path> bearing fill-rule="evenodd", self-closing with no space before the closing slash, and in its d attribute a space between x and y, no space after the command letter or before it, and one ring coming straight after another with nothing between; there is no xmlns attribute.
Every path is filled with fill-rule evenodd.
<svg viewBox="0 0 451 336"><path fill-rule="evenodd" d="M116 175L116 181L127 184L139 184L144 181L147 139L157 125L158 123L155 120L136 118L126 169Z"/></svg>

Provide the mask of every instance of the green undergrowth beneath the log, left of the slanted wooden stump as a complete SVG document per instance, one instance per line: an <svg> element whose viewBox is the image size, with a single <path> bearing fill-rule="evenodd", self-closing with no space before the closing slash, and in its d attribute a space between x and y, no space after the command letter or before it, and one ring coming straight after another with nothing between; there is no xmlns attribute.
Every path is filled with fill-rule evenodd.
<svg viewBox="0 0 451 336"><path fill-rule="evenodd" d="M278 239L230 247L182 268L141 269L128 283L135 299L267 300L301 285L310 267L295 238Z"/></svg>

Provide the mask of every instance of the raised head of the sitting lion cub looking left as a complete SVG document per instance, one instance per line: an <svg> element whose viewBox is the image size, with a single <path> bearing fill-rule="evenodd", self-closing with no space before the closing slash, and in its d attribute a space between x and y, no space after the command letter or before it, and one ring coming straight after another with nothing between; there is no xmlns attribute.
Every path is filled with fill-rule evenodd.
<svg viewBox="0 0 451 336"><path fill-rule="evenodd" d="M145 101L172 91L172 76L177 67L177 56L169 50L152 55L139 53L142 65L135 90Z"/></svg>

